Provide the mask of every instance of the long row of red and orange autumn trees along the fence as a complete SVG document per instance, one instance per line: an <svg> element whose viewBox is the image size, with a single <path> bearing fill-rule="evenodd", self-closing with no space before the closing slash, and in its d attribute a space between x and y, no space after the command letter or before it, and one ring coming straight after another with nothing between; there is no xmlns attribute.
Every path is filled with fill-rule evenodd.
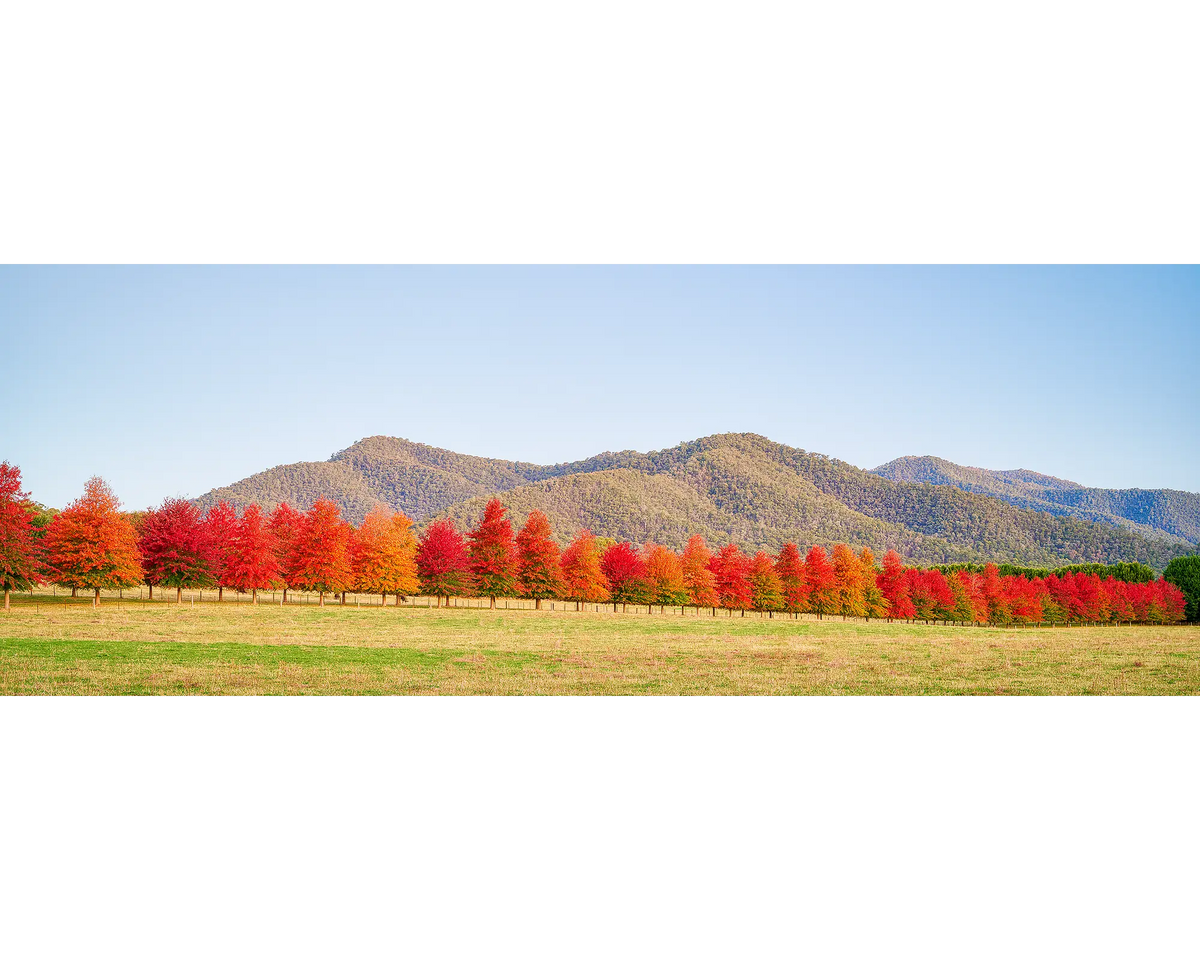
<svg viewBox="0 0 1200 960"><path fill-rule="evenodd" d="M1174 622L1182 619L1183 594L1159 578L1128 583L1074 572L1045 577L1001 576L989 564L982 572L905 568L888 551L882 564L869 548L854 552L845 544L832 554L814 546L802 554L785 544L776 556L752 557L728 544L709 550L692 536L682 553L658 545L635 546L596 538L582 530L559 551L546 515L534 510L514 533L498 499L492 499L479 526L466 534L449 520L434 521L418 539L403 514L377 510L361 527L344 522L336 504L318 500L300 512L281 504L270 514L257 505L241 516L227 503L206 514L178 499L134 521L120 512L112 490L100 479L58 514L38 538L29 527L24 560L16 575L4 547L20 544L20 522L5 508L18 503L19 472L4 464L0 473L0 575L26 589L48 581L72 590L132 587L176 590L224 588L302 589L320 594L377 593L384 600L422 594L438 598L520 596L536 601L564 599L614 605L718 607L732 611L840 614L892 619L936 619L978 623L1044 622ZM14 475L16 479L12 479ZM7 479L6 479L7 478ZM8 500L2 491L12 487ZM4 526L7 524L7 526ZM5 533L8 530L8 533ZM16 530L16 534L13 534ZM8 558L8 559L6 559ZM24 566L20 564L24 563ZM5 572L10 570L10 572Z"/></svg>

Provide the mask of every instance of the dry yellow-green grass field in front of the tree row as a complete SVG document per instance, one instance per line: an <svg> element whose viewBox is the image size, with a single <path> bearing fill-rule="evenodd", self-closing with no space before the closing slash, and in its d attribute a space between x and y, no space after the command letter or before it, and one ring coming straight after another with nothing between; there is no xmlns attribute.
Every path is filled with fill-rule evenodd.
<svg viewBox="0 0 1200 960"><path fill-rule="evenodd" d="M0 695L1181 696L1200 626L14 598Z"/></svg>

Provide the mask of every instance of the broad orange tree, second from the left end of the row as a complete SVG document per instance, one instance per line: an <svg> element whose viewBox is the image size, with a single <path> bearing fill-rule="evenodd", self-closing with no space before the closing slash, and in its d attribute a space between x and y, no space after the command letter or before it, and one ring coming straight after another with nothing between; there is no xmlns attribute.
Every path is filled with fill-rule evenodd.
<svg viewBox="0 0 1200 960"><path fill-rule="evenodd" d="M121 503L98 476L84 494L50 521L42 541L50 581L76 589L136 587L142 583L142 556L133 524Z"/></svg>

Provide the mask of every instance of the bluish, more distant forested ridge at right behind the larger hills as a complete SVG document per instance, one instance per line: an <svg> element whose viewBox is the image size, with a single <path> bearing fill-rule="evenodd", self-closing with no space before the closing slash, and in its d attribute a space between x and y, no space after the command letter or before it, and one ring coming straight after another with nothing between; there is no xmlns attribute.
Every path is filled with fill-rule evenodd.
<svg viewBox="0 0 1200 960"><path fill-rule="evenodd" d="M870 473L888 480L955 486L1055 516L1114 523L1148 538L1200 542L1200 493L1085 487L1032 470L985 470L940 457L900 457Z"/></svg>

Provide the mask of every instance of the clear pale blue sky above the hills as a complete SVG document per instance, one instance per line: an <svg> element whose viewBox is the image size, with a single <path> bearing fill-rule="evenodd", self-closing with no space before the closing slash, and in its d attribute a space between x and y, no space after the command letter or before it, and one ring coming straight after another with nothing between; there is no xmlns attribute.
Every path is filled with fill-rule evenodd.
<svg viewBox="0 0 1200 960"><path fill-rule="evenodd" d="M1200 491L1200 266L5 264L0 460L139 509L388 434L554 463L761 433Z"/></svg>

